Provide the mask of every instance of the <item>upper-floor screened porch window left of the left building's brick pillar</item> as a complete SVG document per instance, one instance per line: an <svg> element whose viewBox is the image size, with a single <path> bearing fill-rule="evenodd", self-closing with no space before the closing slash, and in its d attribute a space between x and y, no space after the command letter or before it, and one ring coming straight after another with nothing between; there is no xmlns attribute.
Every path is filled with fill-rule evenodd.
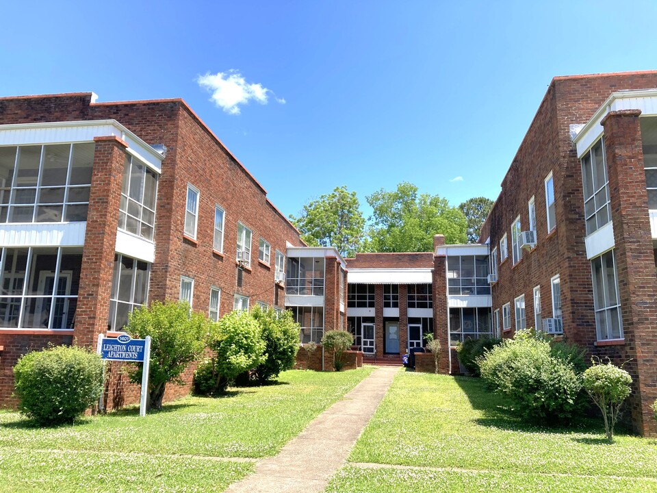
<svg viewBox="0 0 657 493"><path fill-rule="evenodd" d="M0 223L86 221L95 144L0 147Z"/></svg>

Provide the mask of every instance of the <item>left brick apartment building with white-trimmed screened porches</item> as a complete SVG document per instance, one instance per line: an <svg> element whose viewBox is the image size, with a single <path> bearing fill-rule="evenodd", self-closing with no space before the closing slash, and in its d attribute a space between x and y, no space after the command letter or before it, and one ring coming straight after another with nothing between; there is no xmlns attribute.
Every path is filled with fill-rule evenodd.
<svg viewBox="0 0 657 493"><path fill-rule="evenodd" d="M0 404L20 355L93 347L142 303L283 309L285 251L302 244L181 99L0 99ZM114 368L108 407L138 399Z"/></svg>

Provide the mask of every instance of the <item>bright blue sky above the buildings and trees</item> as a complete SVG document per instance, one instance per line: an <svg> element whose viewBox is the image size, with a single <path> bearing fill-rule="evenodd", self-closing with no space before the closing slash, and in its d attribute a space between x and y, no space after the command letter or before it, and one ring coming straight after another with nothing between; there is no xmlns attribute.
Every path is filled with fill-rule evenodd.
<svg viewBox="0 0 657 493"><path fill-rule="evenodd" d="M495 199L552 77L657 68L649 1L25 1L3 18L0 95L181 97L286 215L341 185L363 204L400 181ZM238 73L224 109L198 83Z"/></svg>

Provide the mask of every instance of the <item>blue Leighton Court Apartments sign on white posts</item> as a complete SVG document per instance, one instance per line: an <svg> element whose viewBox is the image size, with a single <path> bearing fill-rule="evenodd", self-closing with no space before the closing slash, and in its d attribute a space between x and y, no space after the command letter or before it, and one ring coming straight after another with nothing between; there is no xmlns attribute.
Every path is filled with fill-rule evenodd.
<svg viewBox="0 0 657 493"><path fill-rule="evenodd" d="M146 416L146 397L149 394L149 370L151 367L151 336L145 339L133 339L127 333L115 338L106 338L103 334L98 336L98 353L101 358L108 361L142 362L142 392L140 395L139 415ZM103 382L105 370L103 369ZM103 396L99 402L99 409L103 409Z"/></svg>

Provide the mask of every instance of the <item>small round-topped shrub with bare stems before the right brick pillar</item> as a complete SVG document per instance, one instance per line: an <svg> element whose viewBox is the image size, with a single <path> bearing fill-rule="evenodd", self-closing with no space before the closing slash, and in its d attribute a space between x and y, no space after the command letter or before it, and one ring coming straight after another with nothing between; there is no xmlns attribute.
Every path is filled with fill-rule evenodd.
<svg viewBox="0 0 657 493"><path fill-rule="evenodd" d="M626 370L614 366L611 362L596 364L593 361L593 366L582 375L582 385L591 396L593 403L600 407L607 440L612 442L614 425L618 420L621 406L630 395L632 377Z"/></svg>

